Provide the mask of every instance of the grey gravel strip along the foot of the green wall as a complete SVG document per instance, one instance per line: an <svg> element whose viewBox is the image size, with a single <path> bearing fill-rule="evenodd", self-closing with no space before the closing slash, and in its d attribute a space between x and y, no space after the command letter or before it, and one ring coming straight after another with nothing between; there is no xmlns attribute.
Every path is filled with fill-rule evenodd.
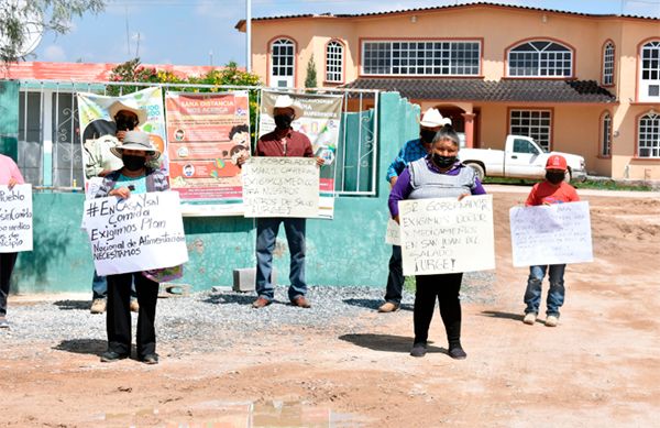
<svg viewBox="0 0 660 428"><path fill-rule="evenodd" d="M463 301L486 303L495 281L493 272L465 274ZM275 301L263 309L252 309L254 293L200 292L189 297L158 300L156 332L160 351L168 356L208 352L229 348L255 331L273 330L294 334L300 329L337 330L353 333L388 321L370 317L383 303L384 290L376 287L311 286L310 309L293 307L286 298L287 287L275 289ZM398 316L411 316L415 296L404 292ZM7 344L52 342L53 349L79 353L106 350L106 317L90 315L88 300L55 300L9 305L11 329L0 330L0 355L14 358ZM406 315L407 314L407 315ZM136 315L133 315L133 325ZM15 355L18 358L18 355Z"/></svg>

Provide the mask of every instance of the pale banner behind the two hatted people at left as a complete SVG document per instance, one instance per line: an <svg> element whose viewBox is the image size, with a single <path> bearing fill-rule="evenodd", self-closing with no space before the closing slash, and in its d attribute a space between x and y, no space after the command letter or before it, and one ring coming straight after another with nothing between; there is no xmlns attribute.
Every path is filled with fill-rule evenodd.
<svg viewBox="0 0 660 428"><path fill-rule="evenodd" d="M167 139L161 88L146 88L121 97L78 92L77 98L86 185L89 178L99 176L103 171L122 167L121 160L110 152L111 147L119 144L116 138L117 123L110 113L111 106L117 101L145 111L144 123L140 123L136 129L150 134L153 145L163 154L151 166L163 168L167 173Z"/></svg>

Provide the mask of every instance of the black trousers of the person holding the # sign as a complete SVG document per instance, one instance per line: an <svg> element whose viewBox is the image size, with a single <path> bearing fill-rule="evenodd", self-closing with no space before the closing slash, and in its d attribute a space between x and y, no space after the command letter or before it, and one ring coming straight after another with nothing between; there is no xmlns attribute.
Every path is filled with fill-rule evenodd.
<svg viewBox="0 0 660 428"><path fill-rule="evenodd" d="M158 283L140 272L108 276L108 309L106 328L108 350L122 355L131 353L131 284L135 282L138 292L138 359L142 360L156 352L156 301Z"/></svg>

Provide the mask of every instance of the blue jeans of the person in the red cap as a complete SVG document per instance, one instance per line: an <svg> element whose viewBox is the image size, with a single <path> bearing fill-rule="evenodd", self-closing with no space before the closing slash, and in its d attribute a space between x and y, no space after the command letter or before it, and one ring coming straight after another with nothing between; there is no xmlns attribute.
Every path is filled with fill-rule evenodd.
<svg viewBox="0 0 660 428"><path fill-rule="evenodd" d="M527 279L527 290L525 292L525 314L539 312L539 304L541 303L541 283L548 273L550 288L548 289L548 298L546 304L548 309L547 315L559 317L559 308L563 305L565 288L563 285L563 274L566 268L565 264L551 264L546 266L529 266L529 278Z"/></svg>

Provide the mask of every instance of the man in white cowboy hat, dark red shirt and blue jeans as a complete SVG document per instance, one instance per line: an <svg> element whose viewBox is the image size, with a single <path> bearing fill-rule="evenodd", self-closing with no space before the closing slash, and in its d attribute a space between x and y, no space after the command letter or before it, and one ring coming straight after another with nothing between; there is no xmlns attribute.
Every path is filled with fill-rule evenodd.
<svg viewBox="0 0 660 428"><path fill-rule="evenodd" d="M280 95L275 99L271 114L275 120L275 130L262 135L256 143L256 156L278 157L315 157L309 139L292 129L292 122L302 116L300 105L288 95ZM245 157L241 157L242 164ZM323 160L317 157L317 165L322 165ZM305 281L305 219L299 218L257 218L256 219L256 293L257 298L252 304L254 308L268 306L274 296L271 273L273 271L273 250L279 231L279 223L284 223L286 240L290 252L290 286L288 298L294 306L309 308L306 298L307 283Z"/></svg>

